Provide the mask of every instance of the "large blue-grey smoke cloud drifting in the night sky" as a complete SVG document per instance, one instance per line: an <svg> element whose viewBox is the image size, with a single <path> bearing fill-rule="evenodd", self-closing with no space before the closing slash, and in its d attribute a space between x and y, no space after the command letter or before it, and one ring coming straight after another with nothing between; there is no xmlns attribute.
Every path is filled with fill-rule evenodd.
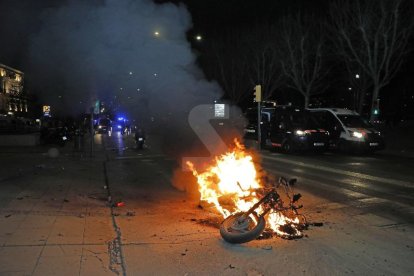
<svg viewBox="0 0 414 276"><path fill-rule="evenodd" d="M182 4L149 0L67 1L44 10L31 35L31 74L42 101L66 113L96 100L153 121L212 103L220 87L195 65Z"/></svg>

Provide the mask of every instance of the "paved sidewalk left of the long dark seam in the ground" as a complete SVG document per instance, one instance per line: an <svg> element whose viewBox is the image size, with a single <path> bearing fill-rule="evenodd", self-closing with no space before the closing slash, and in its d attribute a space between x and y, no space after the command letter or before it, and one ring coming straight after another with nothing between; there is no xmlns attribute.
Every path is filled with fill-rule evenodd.
<svg viewBox="0 0 414 276"><path fill-rule="evenodd" d="M1 151L0 275L113 275L101 160L48 149Z"/></svg>

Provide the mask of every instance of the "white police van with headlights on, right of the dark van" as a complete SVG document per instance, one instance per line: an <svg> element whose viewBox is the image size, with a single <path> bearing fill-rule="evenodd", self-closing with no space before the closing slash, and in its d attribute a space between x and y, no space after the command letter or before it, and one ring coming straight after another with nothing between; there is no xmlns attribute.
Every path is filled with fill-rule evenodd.
<svg viewBox="0 0 414 276"><path fill-rule="evenodd" d="M309 108L329 131L331 148L374 152L385 148L381 133L357 112L342 108Z"/></svg>

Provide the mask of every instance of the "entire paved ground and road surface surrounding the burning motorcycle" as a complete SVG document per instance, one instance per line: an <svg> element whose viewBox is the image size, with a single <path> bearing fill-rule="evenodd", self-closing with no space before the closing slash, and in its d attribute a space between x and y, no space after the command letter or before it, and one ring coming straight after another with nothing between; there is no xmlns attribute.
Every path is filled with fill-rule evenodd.
<svg viewBox="0 0 414 276"><path fill-rule="evenodd" d="M188 178L178 181L182 191L173 187L177 160L160 152L157 137L148 145L139 151L130 136L96 135L91 156L70 144L55 157L45 147L2 150L0 275L413 271L409 159L263 152L256 161L270 173L297 177L304 214L323 226L298 240L233 245L220 237L221 219L198 207ZM411 217L376 211L394 205Z"/></svg>

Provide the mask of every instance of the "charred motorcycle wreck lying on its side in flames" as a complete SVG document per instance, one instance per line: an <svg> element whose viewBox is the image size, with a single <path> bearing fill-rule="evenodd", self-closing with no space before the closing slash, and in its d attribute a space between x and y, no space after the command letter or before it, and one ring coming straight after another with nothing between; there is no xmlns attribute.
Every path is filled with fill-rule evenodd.
<svg viewBox="0 0 414 276"><path fill-rule="evenodd" d="M287 180L280 177L278 182L271 187L257 189L261 199L245 212L237 212L228 216L220 226L220 234L229 243L245 243L258 238L266 228L265 216L273 216L276 225L271 225L277 235L284 238L302 237L300 230L306 228L307 222L303 215L299 215L298 209L302 205L295 205L301 198L301 194L294 194L293 186L296 179ZM277 189L282 186L286 198L285 204ZM283 220L283 223L279 223ZM279 221L279 222L278 222ZM275 230L276 229L276 230Z"/></svg>

